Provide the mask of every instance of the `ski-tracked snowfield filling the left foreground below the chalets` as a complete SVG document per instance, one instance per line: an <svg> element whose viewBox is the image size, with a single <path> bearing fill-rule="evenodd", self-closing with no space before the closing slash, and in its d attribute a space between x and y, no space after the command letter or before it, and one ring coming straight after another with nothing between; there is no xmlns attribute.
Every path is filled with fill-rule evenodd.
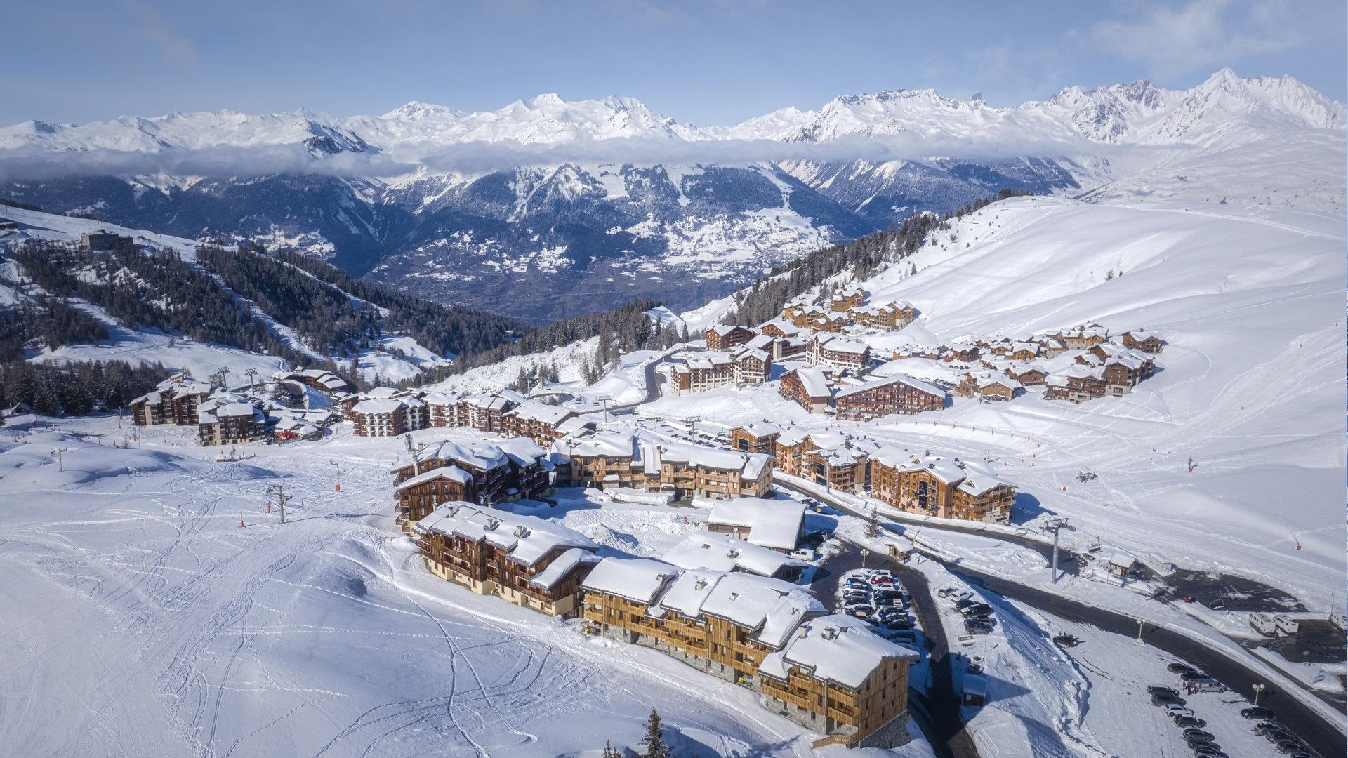
<svg viewBox="0 0 1348 758"><path fill-rule="evenodd" d="M127 432L0 428L0 754L597 754L635 746L652 707L683 755L810 754L751 692L426 572L392 523L400 440L216 463L191 428L113 446ZM271 486L294 496L284 525ZM605 550L694 529L584 500L568 491L563 522Z"/></svg>

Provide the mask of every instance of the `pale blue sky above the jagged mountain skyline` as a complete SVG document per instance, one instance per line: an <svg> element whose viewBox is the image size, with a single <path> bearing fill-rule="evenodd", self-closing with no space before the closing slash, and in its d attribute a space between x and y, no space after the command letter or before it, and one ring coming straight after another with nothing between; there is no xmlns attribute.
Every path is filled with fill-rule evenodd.
<svg viewBox="0 0 1348 758"><path fill-rule="evenodd" d="M59 5L59 8L58 8ZM1221 66L1345 100L1343 0L961 3L332 0L11 3L0 124L170 111L492 109L627 94L729 124L837 94L936 88L993 105Z"/></svg>

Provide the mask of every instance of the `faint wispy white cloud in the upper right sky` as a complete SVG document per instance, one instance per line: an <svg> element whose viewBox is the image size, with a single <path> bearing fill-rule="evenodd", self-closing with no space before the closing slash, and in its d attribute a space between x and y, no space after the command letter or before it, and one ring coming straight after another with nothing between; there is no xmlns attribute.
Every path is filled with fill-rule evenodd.
<svg viewBox="0 0 1348 758"><path fill-rule="evenodd" d="M1212 70L1251 55L1287 50L1299 42L1279 20L1290 12L1281 0L1127 7L1134 9L1132 19L1101 22L1080 39L1116 58L1140 62L1153 76Z"/></svg>

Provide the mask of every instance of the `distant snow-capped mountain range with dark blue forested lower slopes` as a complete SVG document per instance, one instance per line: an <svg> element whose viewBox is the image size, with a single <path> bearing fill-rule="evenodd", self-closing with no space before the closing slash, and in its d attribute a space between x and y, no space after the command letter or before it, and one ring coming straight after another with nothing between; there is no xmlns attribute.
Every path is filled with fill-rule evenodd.
<svg viewBox="0 0 1348 758"><path fill-rule="evenodd" d="M1229 69L1188 90L1073 86L1014 108L879 92L731 127L555 94L476 113L170 113L3 128L0 194L189 237L267 237L419 294L547 318L646 294L698 303L1004 186L1146 194L1177 165L1341 140L1344 123L1341 104L1290 77Z"/></svg>

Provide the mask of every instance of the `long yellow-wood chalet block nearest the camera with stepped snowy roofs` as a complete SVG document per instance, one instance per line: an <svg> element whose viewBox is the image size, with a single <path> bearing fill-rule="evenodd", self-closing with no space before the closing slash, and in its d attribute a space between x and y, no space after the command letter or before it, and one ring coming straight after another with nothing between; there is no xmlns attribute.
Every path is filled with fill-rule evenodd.
<svg viewBox="0 0 1348 758"><path fill-rule="evenodd" d="M581 587L584 618L605 637L748 687L828 742L898 747L909 739L907 669L917 653L864 622L825 615L797 585L609 557Z"/></svg>

